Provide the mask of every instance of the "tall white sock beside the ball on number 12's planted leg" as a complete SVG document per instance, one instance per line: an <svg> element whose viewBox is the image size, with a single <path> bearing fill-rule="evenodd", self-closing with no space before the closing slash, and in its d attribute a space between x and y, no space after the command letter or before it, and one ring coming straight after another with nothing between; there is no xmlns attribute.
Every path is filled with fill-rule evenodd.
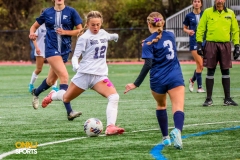
<svg viewBox="0 0 240 160"><path fill-rule="evenodd" d="M111 124L115 125L117 121L118 101L119 101L119 95L117 93L111 94L110 96L108 96L108 105L106 109L107 126Z"/></svg>

